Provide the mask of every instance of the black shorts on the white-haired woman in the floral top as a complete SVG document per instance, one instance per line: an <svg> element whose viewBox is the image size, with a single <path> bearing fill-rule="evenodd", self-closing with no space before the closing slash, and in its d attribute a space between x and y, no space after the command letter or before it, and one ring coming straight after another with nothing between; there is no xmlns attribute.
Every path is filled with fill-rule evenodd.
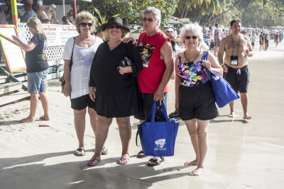
<svg viewBox="0 0 284 189"><path fill-rule="evenodd" d="M219 116L211 84L182 86L178 89L179 113L182 120L212 120Z"/></svg>

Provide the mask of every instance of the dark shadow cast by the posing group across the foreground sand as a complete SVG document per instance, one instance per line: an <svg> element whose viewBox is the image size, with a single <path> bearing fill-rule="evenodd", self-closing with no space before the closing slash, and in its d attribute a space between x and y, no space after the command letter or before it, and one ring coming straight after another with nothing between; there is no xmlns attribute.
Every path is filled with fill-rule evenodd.
<svg viewBox="0 0 284 189"><path fill-rule="evenodd" d="M115 163L119 157L103 159L97 166L87 166L85 159L77 161L82 157L70 156L73 153L64 151L0 159L0 188L149 188L153 183L188 175L177 173L185 166L155 170L146 166L146 162L131 164L131 160L119 166ZM70 162L58 163L62 158Z"/></svg>

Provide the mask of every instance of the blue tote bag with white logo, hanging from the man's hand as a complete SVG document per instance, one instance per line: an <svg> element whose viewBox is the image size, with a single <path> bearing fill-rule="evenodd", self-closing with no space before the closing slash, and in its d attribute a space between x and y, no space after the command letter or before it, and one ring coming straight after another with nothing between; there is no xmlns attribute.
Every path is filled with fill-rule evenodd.
<svg viewBox="0 0 284 189"><path fill-rule="evenodd" d="M136 145L139 134L142 149L146 156L173 156L175 138L178 134L180 122L168 118L163 101L162 118L159 121L155 121L155 103L153 103L153 108L149 116L151 120L148 119L138 125Z"/></svg>

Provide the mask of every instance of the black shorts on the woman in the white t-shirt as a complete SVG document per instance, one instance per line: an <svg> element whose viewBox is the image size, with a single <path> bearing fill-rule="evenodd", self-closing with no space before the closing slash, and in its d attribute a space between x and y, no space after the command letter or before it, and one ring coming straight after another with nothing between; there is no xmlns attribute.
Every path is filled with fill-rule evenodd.
<svg viewBox="0 0 284 189"><path fill-rule="evenodd" d="M83 110L84 108L95 108L96 103L89 98L89 94L71 99L71 108L73 110Z"/></svg>

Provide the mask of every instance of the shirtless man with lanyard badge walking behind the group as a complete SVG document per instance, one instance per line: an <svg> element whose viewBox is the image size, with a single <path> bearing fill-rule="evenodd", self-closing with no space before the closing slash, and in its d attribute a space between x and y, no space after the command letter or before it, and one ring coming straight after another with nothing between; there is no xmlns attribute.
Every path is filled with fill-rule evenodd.
<svg viewBox="0 0 284 189"><path fill-rule="evenodd" d="M241 94L241 105L244 110L244 119L250 120L248 114L248 87L249 87L249 68L248 57L253 56L253 49L248 37L242 35L241 21L231 21L231 35L223 38L218 52L219 64L226 73L224 79ZM223 59L226 52L225 59ZM234 118L234 101L229 103L229 117Z"/></svg>

